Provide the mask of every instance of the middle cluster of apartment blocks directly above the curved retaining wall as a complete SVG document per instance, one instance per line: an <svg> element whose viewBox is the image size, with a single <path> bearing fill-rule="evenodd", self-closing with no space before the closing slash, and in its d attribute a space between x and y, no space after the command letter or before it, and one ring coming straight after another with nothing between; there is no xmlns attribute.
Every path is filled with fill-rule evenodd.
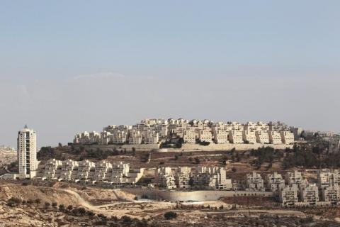
<svg viewBox="0 0 340 227"><path fill-rule="evenodd" d="M165 189L232 189L225 167L162 167L156 172L157 184Z"/></svg>

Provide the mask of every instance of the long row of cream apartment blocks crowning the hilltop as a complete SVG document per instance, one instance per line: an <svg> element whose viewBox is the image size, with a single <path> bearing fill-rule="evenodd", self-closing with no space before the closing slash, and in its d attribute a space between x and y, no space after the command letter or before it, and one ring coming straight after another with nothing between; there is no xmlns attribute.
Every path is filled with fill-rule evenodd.
<svg viewBox="0 0 340 227"><path fill-rule="evenodd" d="M74 144L157 144L179 138L183 143L198 141L217 144L260 143L293 144L293 127L282 122L257 123L217 122L185 119L145 119L134 126L107 126L101 133L83 132L74 137ZM295 135L296 137L296 135Z"/></svg>

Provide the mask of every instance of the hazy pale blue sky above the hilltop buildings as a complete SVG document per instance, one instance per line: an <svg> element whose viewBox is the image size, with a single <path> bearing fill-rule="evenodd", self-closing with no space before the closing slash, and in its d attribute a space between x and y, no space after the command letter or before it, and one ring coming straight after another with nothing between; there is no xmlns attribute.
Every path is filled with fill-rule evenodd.
<svg viewBox="0 0 340 227"><path fill-rule="evenodd" d="M142 118L340 132L340 1L0 1L0 145Z"/></svg>

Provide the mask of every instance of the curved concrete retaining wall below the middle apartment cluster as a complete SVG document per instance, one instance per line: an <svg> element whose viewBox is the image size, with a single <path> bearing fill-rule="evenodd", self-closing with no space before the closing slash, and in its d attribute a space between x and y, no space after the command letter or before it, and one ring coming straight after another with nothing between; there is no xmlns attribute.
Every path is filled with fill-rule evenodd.
<svg viewBox="0 0 340 227"><path fill-rule="evenodd" d="M206 200L218 200L221 197L232 196L267 196L272 197L273 192L246 192L246 191L164 191L156 189L138 189L130 188L123 189L126 192L136 194L138 197L147 197L148 199L163 199L166 201L206 201Z"/></svg>

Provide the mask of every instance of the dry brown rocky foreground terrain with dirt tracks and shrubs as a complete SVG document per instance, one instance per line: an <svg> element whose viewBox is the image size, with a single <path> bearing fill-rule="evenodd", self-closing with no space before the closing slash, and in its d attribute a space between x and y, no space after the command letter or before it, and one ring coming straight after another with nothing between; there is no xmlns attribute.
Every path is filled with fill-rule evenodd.
<svg viewBox="0 0 340 227"><path fill-rule="evenodd" d="M288 210L225 199L176 204L135 200L120 189L27 184L0 182L0 226L340 226L339 208Z"/></svg>

